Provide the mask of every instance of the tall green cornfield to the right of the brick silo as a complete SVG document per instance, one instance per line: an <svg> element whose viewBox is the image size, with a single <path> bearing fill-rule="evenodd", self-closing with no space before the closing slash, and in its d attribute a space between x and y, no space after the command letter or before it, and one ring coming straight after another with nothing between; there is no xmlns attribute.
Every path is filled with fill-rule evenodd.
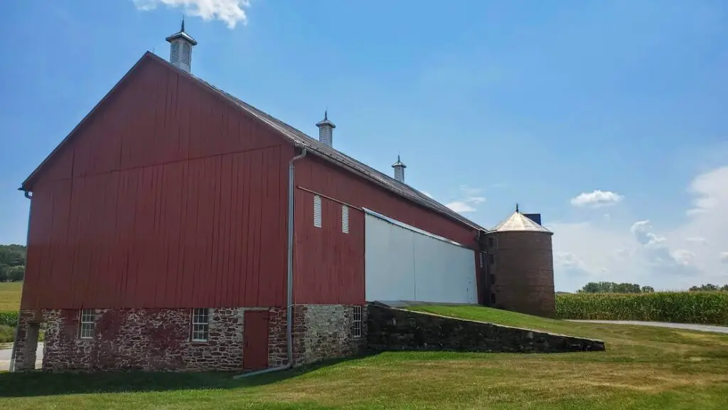
<svg viewBox="0 0 728 410"><path fill-rule="evenodd" d="M561 294L556 295L556 315L560 319L728 325L728 292Z"/></svg>

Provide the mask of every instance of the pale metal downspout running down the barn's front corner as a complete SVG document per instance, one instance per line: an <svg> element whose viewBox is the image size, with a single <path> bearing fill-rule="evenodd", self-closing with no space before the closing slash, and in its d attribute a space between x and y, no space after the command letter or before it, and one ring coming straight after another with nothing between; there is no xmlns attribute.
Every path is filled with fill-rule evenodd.
<svg viewBox="0 0 728 410"><path fill-rule="evenodd" d="M301 150L301 155L296 155L290 158L288 162L288 301L286 302L286 326L285 326L285 337L286 344L288 345L288 363L282 366L274 368L266 368L264 370L252 371L250 373L238 374L234 376L234 379L240 379L242 377L257 376L258 374L271 373L273 371L285 370L293 367L293 192L296 186L293 179L295 177L296 166L294 162L304 158L306 156L306 148ZM242 337L245 337L245 333Z"/></svg>

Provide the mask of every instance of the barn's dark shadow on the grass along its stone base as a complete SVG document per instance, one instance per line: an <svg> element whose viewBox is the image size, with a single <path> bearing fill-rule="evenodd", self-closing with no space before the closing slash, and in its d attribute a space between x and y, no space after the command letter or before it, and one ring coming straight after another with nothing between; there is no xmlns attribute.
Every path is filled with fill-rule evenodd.
<svg viewBox="0 0 728 410"><path fill-rule="evenodd" d="M256 387L281 382L337 363L365 356L344 357L286 371L233 379L240 372L103 371L96 373L28 371L0 373L0 398L84 393L163 392Z"/></svg>

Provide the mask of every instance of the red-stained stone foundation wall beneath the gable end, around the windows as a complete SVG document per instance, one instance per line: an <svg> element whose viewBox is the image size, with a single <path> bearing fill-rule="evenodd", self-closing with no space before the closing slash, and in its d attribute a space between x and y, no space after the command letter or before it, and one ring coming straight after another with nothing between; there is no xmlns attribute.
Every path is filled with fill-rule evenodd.
<svg viewBox="0 0 728 410"><path fill-rule="evenodd" d="M190 340L191 309L96 309L92 339L79 338L77 309L47 310L43 369L242 371L248 309L261 310L210 309L207 341ZM269 364L285 363L285 309L264 310L270 312ZM275 347L281 339L282 359Z"/></svg>

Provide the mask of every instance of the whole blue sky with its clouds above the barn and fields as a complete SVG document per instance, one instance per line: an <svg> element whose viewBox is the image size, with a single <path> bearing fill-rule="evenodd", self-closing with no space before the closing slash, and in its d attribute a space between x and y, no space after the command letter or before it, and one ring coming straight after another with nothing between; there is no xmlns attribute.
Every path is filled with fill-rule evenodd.
<svg viewBox="0 0 728 410"><path fill-rule="evenodd" d="M728 282L720 0L9 2L0 243L25 243L20 182L146 50L168 57L183 12L199 77L309 135L328 107L337 149L387 173L400 154L481 225L541 212L560 290Z"/></svg>

